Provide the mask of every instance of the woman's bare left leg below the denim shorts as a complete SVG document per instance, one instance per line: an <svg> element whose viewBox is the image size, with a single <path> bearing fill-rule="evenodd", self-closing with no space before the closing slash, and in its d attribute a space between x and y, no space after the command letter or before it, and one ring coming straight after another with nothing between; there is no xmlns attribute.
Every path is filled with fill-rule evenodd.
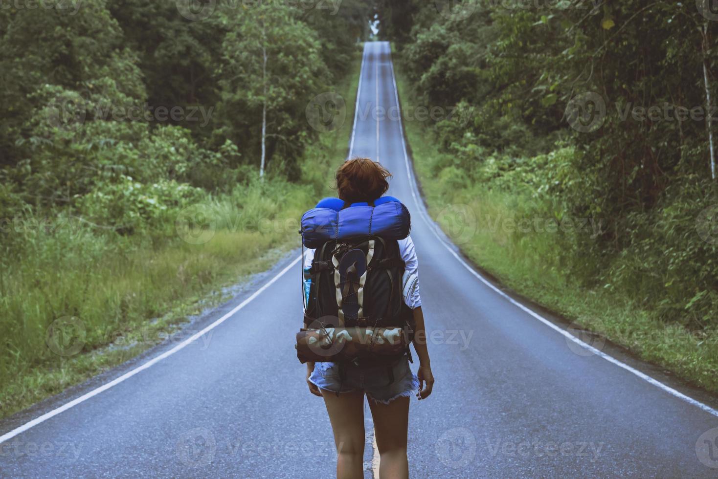
<svg viewBox="0 0 718 479"><path fill-rule="evenodd" d="M364 477L364 392L337 394L322 389L337 446L337 479Z"/></svg>

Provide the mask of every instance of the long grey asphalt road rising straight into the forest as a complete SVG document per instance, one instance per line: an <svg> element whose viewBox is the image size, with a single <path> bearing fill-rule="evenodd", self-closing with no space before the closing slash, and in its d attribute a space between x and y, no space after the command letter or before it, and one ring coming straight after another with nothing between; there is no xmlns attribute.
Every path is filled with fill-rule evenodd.
<svg viewBox="0 0 718 479"><path fill-rule="evenodd" d="M437 378L432 397L411 403L411 476L717 477L714 398L610 344L583 348L478 278L427 219L407 170L388 44L367 44L361 75L352 153L393 172L390 194L412 214ZM297 256L188 326L197 341L169 341L0 422L13 436L0 437L0 477L332 477L329 420L294 353ZM372 456L369 439L367 477Z"/></svg>

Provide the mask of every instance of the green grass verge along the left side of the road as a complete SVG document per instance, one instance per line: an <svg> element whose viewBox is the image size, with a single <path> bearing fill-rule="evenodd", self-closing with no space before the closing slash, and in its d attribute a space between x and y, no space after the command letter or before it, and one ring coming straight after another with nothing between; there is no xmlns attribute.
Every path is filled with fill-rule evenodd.
<svg viewBox="0 0 718 479"><path fill-rule="evenodd" d="M22 255L0 265L0 417L146 351L226 300L223 287L297 247L299 218L330 192L345 158L359 63L357 54L336 86L347 119L307 148L302 184L267 178L210 199L193 214L213 229L187 237L172 222L130 237L87 225L22 232Z"/></svg>

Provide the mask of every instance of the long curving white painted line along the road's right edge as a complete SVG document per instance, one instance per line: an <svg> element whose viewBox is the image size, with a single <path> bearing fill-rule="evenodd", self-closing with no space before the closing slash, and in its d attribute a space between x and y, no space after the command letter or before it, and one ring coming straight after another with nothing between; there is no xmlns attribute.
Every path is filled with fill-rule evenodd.
<svg viewBox="0 0 718 479"><path fill-rule="evenodd" d="M635 369L628 364L625 364L623 361L619 361L618 359L615 359L613 356L610 356L609 354L604 353L603 351L600 351L599 349L589 345L588 343L584 343L584 341L581 341L576 336L572 335L568 331L564 331L564 329L559 328L559 326L556 326L554 323L551 323L551 321L547 320L540 314L536 313L535 311L527 308L523 304L519 303L518 301L511 298L509 295L504 293L499 288L496 288L493 284L490 283L486 278L484 278L482 275L480 275L474 268L472 268L470 265L465 262L462 257L457 255L457 253L452 250L449 245L447 245L447 242L445 242L442 237L439 236L437 233L438 225L432 221L432 219L429 218L428 213L424 212L424 205L421 204L419 199L416 196L416 191L418 190L418 186L416 184L416 180L414 179L414 176L411 174L411 168L409 166L409 153L406 151L406 141L404 139L404 125L401 121L401 105L399 105L399 99L398 99L398 89L396 87L396 76L394 75L394 62L393 59L391 60L391 78L394 83L394 95L396 96L396 105L399 111L398 118L399 118L399 128L401 130L401 144L404 146L404 165L406 166L406 176L409 179L409 184L411 186L411 196L414 198L414 203L416 204L416 208L419 210L419 214L421 214L421 217L424 219L426 224L429 226L429 229L432 230L434 233L434 236L437 237L437 240L444 245L444 247L457 259L458 262L460 262L472 275L474 275L476 278L478 278L482 283L487 285L489 288L494 290L496 293L501 295L503 298L508 300L509 303L515 305L517 308L525 311L529 315L533 316L533 318L538 319L538 321L541 321L541 323L544 323L546 326L549 326L549 328L554 329L554 331L557 331L561 333L563 336L565 336L570 341L573 341L574 343L577 343L579 346L582 346L583 348L586 348L587 350L591 351L593 354L600 356L601 358L605 359L606 361L609 361L610 363L615 364L616 366L619 366L620 368L625 369L626 371L630 372L631 374L635 374L635 376L638 376L640 379L643 379L644 381L653 384L653 386L658 387L659 389L663 389L663 391L667 392L668 394L671 394L679 399L684 400L685 402L692 404L695 407L699 407L700 409L704 410L705 412L709 414L713 414L715 417L718 417L718 410L710 407L708 404L704 404L700 401L697 401L696 399L693 399L692 397L686 396L686 394L683 394L682 392L676 391L676 389L673 389L671 386L667 386L666 384L663 384L661 381L658 381L658 379L653 379L651 376L648 376L648 374L644 374L641 371L638 371L638 369Z"/></svg>

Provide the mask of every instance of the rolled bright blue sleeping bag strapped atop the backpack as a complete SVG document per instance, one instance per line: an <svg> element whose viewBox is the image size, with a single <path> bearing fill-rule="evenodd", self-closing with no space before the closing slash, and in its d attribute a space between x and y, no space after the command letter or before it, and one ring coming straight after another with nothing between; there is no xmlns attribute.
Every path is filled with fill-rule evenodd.
<svg viewBox="0 0 718 479"><path fill-rule="evenodd" d="M320 247L329 240L370 234L385 240L404 240L410 229L409 210L393 196L382 196L373 207L354 203L348 208L344 208L341 199L325 198L302 216L302 241L308 248Z"/></svg>

